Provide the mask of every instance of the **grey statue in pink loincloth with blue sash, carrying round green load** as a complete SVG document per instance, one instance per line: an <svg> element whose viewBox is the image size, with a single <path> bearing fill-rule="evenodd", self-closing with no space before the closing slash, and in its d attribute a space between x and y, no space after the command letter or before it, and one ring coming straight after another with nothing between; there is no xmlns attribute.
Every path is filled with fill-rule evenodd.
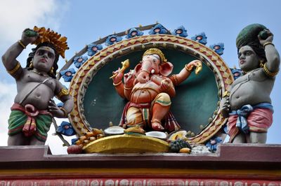
<svg viewBox="0 0 281 186"><path fill-rule="evenodd" d="M250 24L236 39L239 66L237 78L222 101L221 114L228 119L232 143L266 143L273 122L270 92L279 71L280 56L273 34L261 24Z"/></svg>

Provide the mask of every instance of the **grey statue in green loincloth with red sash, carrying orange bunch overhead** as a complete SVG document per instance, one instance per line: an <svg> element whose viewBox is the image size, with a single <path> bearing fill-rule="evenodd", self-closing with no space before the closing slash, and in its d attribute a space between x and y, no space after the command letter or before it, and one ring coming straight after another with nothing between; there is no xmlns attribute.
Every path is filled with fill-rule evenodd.
<svg viewBox="0 0 281 186"><path fill-rule="evenodd" d="M21 39L2 56L8 73L15 78L15 96L8 119L8 145L44 145L53 117L67 117L73 99L55 78L59 55L65 57L67 38L44 27L25 29ZM27 58L26 68L16 59L28 44L37 45ZM56 96L61 108L52 100Z"/></svg>

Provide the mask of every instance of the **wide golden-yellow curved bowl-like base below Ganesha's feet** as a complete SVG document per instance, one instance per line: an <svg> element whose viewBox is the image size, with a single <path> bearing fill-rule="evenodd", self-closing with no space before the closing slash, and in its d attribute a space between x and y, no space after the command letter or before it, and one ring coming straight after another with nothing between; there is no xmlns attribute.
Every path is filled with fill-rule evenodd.
<svg viewBox="0 0 281 186"><path fill-rule="evenodd" d="M115 135L92 141L83 148L86 153L168 152L169 144L144 135Z"/></svg>

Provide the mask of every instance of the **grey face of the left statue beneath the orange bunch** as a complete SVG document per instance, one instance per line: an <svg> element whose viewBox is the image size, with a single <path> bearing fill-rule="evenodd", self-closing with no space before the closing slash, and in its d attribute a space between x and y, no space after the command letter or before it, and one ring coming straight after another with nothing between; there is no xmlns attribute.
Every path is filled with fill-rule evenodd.
<svg viewBox="0 0 281 186"><path fill-rule="evenodd" d="M41 46L35 52L32 61L34 69L48 73L55 62L55 50L47 46Z"/></svg>

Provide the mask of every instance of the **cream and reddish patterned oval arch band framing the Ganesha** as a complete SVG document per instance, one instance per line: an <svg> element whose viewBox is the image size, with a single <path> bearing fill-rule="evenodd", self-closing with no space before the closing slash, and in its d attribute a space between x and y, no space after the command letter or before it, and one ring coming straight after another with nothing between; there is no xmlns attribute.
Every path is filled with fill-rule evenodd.
<svg viewBox="0 0 281 186"><path fill-rule="evenodd" d="M72 113L70 113L69 119L79 136L91 131L91 126L84 115L83 101L89 83L91 83L96 73L113 59L148 48L180 50L196 59L200 59L214 73L216 86L218 87L219 101L221 100L222 92L228 90L234 81L230 69L216 52L188 38L158 34L138 36L136 38L120 41L100 50L96 55L93 55L79 68L74 78L72 78L72 82L70 83L70 95L74 97L74 109ZM209 122L205 125L204 129L196 136L189 138L190 142L204 143L221 129L223 124L226 123L226 119L218 114L219 111L219 106L216 106L213 115L209 118Z"/></svg>

